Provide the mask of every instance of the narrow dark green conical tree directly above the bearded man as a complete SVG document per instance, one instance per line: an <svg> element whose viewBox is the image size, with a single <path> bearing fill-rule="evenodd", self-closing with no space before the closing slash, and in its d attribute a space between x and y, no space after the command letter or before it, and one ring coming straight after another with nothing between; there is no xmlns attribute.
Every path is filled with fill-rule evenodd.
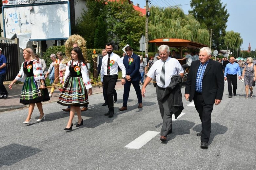
<svg viewBox="0 0 256 170"><path fill-rule="evenodd" d="M98 17L97 28L94 35L94 48L101 49L105 47L108 41L107 23L104 21L103 16Z"/></svg>

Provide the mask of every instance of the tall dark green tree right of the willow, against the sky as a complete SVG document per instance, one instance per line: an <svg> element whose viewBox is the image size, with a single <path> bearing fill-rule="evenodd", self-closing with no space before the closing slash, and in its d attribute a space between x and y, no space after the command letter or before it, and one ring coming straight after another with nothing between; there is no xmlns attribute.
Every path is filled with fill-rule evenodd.
<svg viewBox="0 0 256 170"><path fill-rule="evenodd" d="M226 4L220 0L191 0L190 6L192 14L200 23L201 29L212 29L212 48L220 50L224 43L223 37L226 34L226 23L229 14Z"/></svg>

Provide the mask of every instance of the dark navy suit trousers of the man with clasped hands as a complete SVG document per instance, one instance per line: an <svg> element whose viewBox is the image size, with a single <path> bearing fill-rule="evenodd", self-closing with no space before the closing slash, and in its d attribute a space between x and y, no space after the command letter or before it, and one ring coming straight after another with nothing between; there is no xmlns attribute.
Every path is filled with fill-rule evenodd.
<svg viewBox="0 0 256 170"><path fill-rule="evenodd" d="M124 95L123 95L124 103L123 103L123 107L127 107L127 101L128 101L128 98L129 98L131 84L133 85L133 87L135 89L137 99L138 99L138 103L142 103L140 80L137 80L137 81L127 81L126 80L125 85L124 85Z"/></svg>

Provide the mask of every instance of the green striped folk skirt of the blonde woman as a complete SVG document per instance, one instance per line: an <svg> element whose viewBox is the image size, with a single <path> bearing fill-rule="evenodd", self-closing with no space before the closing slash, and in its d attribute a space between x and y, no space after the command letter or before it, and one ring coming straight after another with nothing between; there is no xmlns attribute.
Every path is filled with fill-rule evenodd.
<svg viewBox="0 0 256 170"><path fill-rule="evenodd" d="M50 100L47 88L39 89L40 86L41 81L35 80L34 76L26 77L20 94L20 103L30 104Z"/></svg>

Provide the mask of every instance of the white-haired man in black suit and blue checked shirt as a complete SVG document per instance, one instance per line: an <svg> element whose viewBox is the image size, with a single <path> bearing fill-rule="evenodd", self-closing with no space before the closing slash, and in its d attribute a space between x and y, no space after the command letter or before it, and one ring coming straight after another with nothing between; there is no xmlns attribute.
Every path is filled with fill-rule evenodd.
<svg viewBox="0 0 256 170"><path fill-rule="evenodd" d="M201 148L208 148L213 104L220 104L224 91L222 65L210 57L211 49L204 47L200 50L199 60L191 63L185 89L186 100L194 100L202 122L202 131L197 133L201 136Z"/></svg>

